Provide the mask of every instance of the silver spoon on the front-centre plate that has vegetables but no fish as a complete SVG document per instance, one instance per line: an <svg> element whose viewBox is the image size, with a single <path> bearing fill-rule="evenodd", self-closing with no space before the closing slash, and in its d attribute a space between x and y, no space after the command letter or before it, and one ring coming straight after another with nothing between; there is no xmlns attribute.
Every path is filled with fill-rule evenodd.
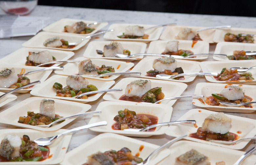
<svg viewBox="0 0 256 165"><path fill-rule="evenodd" d="M151 126L141 128L141 129L134 129L134 128L128 128L124 129L123 131L132 131L132 132L144 132L147 131L151 128L155 128L158 126L165 126L165 125L172 125L172 124L180 124L180 123L191 123L191 124L196 124L196 120L181 120L181 121L171 121L171 122L165 122L165 123L158 123L158 124L153 124Z"/></svg>

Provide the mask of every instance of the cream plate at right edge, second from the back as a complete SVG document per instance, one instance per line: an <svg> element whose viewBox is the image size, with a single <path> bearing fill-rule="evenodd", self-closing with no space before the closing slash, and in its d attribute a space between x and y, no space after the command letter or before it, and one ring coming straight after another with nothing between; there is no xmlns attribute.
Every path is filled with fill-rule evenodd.
<svg viewBox="0 0 256 165"><path fill-rule="evenodd" d="M215 54L233 55L234 51L256 51L256 44L238 42L219 42L216 45ZM218 61L229 60L227 57L213 56Z"/></svg>

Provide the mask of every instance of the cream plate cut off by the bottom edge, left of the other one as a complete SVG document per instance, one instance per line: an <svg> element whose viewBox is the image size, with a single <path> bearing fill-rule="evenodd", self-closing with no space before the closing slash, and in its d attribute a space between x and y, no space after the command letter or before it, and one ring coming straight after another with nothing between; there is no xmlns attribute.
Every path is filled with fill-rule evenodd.
<svg viewBox="0 0 256 165"><path fill-rule="evenodd" d="M139 150L141 146L144 146L142 151ZM155 149L159 146L144 141L140 141L131 137L126 137L118 134L104 133L88 140L84 144L68 152L65 155L65 159L60 163L61 165L77 165L84 164L88 161L88 156L96 154L97 152L106 152L110 150L121 150L122 148L128 148L132 151L132 155L139 154L143 160L145 160ZM162 159L170 154L168 149L164 149L156 156L150 159L148 165L155 165Z"/></svg>

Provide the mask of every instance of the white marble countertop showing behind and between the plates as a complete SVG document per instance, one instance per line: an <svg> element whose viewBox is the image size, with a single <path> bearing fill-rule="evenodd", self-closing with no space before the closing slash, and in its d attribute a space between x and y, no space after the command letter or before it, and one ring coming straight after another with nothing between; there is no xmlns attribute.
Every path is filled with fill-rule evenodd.
<svg viewBox="0 0 256 165"><path fill-rule="evenodd" d="M3 11L0 11L0 15L5 14ZM74 18L82 20L125 20L125 23L133 24L155 24L160 25L164 23L176 22L177 25L187 25L187 26L217 26L217 25L231 25L232 27L242 27L242 28L256 28L256 18L255 17L238 17L238 16L214 16L214 15L197 15L197 14L179 14L179 13L160 13L160 12L141 12L141 11L121 11L121 10L100 10L100 9L84 9L84 8L67 8L67 7L50 7L50 6L37 6L35 10L29 16L45 16L51 18L51 23L62 19L62 18ZM107 30L109 26L105 27L102 30ZM19 48L22 48L21 44L30 39L32 36L24 37L13 37L9 39L0 39L0 58L10 54L11 52L16 51ZM99 38L92 40L104 40L103 35ZM75 51L75 56L72 59L82 56L87 45L81 48L78 51ZM214 52L216 44L210 44L210 53ZM206 60L213 60L212 57L209 57ZM201 60L201 61L206 61ZM135 62L137 64L137 62ZM53 73L54 74L54 73ZM116 80L119 81L125 76L120 76ZM196 77L192 82L186 83L188 88L182 93L182 95L191 95L194 94L194 89L197 83L206 82L204 77ZM0 111L4 111L10 108L12 105L17 104L18 102L24 100L25 98L32 97L31 94L15 94L18 96L18 99L12 101L0 107ZM184 113L193 108L198 108L192 105L192 98L186 98L178 100L173 105L173 113L171 121L175 121L180 118ZM94 102L89 102L88 104L92 105L91 110L95 111L98 103L103 101L102 96L100 99ZM227 113L232 115L243 116L247 118L256 119L256 113ZM78 117L73 122L63 127L64 129L72 129L78 126L82 126L85 123L88 123L90 116L87 117ZM17 128L11 125L0 124L0 129L9 129ZM75 147L83 144L87 140L95 137L99 133L92 132L90 130L83 130L73 134L72 141L69 145L68 151L71 151ZM173 137L167 135L157 135L151 136L148 138L136 138L146 142L154 143L157 145L162 145ZM243 150L251 148L253 142L250 142Z"/></svg>

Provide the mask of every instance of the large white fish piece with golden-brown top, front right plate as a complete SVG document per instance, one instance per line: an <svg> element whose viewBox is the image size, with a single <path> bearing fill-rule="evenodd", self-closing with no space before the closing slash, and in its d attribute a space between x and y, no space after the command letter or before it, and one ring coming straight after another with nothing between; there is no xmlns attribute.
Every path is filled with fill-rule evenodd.
<svg viewBox="0 0 256 165"><path fill-rule="evenodd" d="M231 128L231 121L231 118L223 112L213 113L204 119L202 129L207 132L225 134Z"/></svg>

